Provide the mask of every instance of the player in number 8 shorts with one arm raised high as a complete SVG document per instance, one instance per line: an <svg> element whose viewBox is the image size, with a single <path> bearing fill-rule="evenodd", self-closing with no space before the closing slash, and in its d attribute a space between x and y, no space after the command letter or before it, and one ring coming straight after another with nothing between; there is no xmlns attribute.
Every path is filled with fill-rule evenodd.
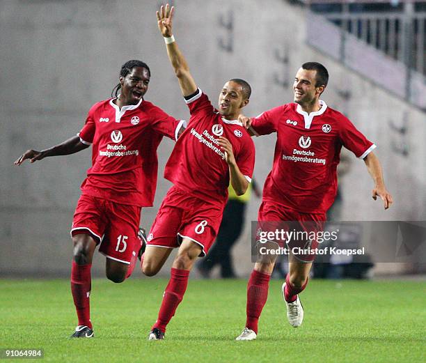
<svg viewBox="0 0 426 363"><path fill-rule="evenodd" d="M179 248L150 340L164 338L166 325L187 289L196 258L205 256L216 238L228 185L238 195L244 194L251 182L255 159L253 141L237 121L242 107L248 103L250 86L242 79L226 82L216 111L207 95L197 88L176 45L173 10L168 5L161 6L157 20L191 118L166 164L164 176L173 187L157 213L143 256L142 271L152 276L164 265L172 249Z"/></svg>

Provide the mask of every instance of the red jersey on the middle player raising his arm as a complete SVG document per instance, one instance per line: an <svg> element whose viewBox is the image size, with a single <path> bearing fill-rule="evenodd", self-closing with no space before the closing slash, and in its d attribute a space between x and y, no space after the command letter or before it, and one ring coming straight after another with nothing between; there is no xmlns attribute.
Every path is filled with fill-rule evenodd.
<svg viewBox="0 0 426 363"><path fill-rule="evenodd" d="M255 160L253 140L242 123L222 118L199 89L185 102L191 118L168 159L164 178L182 192L221 205L228 197L229 167L216 139L223 136L230 141L239 170L248 182Z"/></svg>

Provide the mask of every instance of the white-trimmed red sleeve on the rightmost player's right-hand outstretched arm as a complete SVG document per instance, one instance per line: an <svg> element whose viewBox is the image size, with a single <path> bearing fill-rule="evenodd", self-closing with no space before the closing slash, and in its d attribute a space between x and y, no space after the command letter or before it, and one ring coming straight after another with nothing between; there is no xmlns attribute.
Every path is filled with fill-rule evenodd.
<svg viewBox="0 0 426 363"><path fill-rule="evenodd" d="M376 145L359 132L347 118L342 118L341 121L340 140L345 148L351 150L360 159L376 148Z"/></svg>

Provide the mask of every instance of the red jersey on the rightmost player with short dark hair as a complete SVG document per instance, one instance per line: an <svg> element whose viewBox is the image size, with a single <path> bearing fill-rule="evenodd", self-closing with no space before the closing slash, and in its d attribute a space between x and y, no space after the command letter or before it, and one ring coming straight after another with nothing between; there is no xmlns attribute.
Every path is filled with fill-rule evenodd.
<svg viewBox="0 0 426 363"><path fill-rule="evenodd" d="M310 114L289 103L253 118L258 134L277 133L264 201L301 213L325 213L336 197L342 146L361 159L376 147L340 112L320 103L321 109Z"/></svg>

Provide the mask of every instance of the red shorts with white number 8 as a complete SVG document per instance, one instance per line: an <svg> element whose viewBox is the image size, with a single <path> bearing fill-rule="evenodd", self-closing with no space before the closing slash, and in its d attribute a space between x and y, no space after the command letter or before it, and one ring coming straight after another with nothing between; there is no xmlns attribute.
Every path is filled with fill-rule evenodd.
<svg viewBox="0 0 426 363"><path fill-rule="evenodd" d="M159 208L148 235L148 245L179 247L189 238L203 248L205 256L221 225L223 206L216 206L171 187Z"/></svg>

